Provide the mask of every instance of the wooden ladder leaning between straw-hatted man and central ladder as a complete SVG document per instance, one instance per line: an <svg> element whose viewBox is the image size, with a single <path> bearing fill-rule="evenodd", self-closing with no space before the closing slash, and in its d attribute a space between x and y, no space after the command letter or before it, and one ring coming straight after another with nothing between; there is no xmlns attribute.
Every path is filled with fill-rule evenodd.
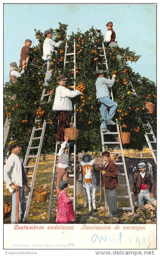
<svg viewBox="0 0 160 256"><path fill-rule="evenodd" d="M51 97L52 97L51 96L51 91L50 91L50 96L48 95L48 93L46 94L45 92L46 92L46 88L43 89L42 96L41 96L41 101L43 101L44 97L48 96L49 97L48 102L50 102ZM39 121L40 120L38 120L37 118L35 119L35 123L37 123ZM33 127L31 137L30 137L30 141L29 141L28 148L27 148L27 152L26 152L26 156L25 156L24 163L23 163L24 168L27 168L27 169L33 169L34 168L33 174L32 175L27 175L27 178L31 179L31 190L30 190L28 196L26 196L27 206L26 206L26 211L25 211L25 214L24 214L24 220L27 220L27 217L28 217L28 212L29 212L29 207L30 207L30 203L31 203L32 193L33 193L34 184L35 184L35 180L36 180L36 173L37 173L37 168L38 168L38 163L39 163L39 157L40 157L41 149L42 149L45 127L46 127L46 120L44 120L42 128L36 128L35 126ZM41 136L34 137L35 132L37 132L39 130L42 130ZM37 140L37 141L40 140L39 145L32 147L32 142L35 141L35 140ZM29 153L30 153L31 149L38 149L37 155L30 155ZM35 164L34 165L26 165L28 159L36 159Z"/></svg>

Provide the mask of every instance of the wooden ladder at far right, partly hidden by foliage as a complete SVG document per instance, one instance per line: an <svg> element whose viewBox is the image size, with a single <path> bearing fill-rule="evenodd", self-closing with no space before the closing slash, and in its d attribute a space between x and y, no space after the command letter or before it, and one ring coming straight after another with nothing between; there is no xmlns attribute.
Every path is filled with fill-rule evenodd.
<svg viewBox="0 0 160 256"><path fill-rule="evenodd" d="M130 81L130 84L131 84L131 87L132 87L132 90L133 90L134 94L137 96L136 91L134 90L134 87L133 87L131 81ZM157 139L156 139L156 137L155 137L155 134L154 134L153 129L152 129L152 127L151 127L151 124L150 124L149 122L143 123L143 127L150 129L150 132L149 132L149 133L146 132L144 136L145 136L145 138L146 138L148 147L149 147L150 150L151 150L151 153L152 153L154 162L155 162L155 164L157 164L157 156L156 156L157 149L153 149L153 146L152 146L152 144L157 145Z"/></svg>

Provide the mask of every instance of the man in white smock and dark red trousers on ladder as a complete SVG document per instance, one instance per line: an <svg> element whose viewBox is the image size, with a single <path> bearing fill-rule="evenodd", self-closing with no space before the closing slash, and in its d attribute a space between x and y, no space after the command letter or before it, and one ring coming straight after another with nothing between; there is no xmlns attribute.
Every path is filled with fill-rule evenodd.
<svg viewBox="0 0 160 256"><path fill-rule="evenodd" d="M66 79L64 75L59 75L56 78L58 87L56 88L56 94L54 97L53 111L57 111L58 114L58 130L56 141L64 141L64 129L70 127L67 117L72 113L72 101L78 95L83 95L79 90L69 90L65 87Z"/></svg>

